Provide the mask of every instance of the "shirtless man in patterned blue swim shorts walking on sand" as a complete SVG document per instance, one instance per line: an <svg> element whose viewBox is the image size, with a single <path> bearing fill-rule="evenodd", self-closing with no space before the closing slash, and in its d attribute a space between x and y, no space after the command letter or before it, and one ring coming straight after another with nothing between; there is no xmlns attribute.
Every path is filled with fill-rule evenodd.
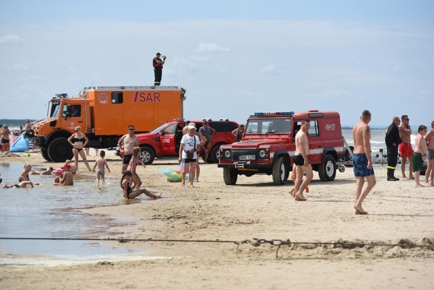
<svg viewBox="0 0 434 290"><path fill-rule="evenodd" d="M371 129L368 124L371 121L371 113L368 110L362 112L360 122L352 128L352 140L354 141L354 155L352 156L354 175L356 176L356 215L367 215L362 208L362 202L375 186L376 180L372 168L371 157ZM368 181L363 188L365 177Z"/></svg>

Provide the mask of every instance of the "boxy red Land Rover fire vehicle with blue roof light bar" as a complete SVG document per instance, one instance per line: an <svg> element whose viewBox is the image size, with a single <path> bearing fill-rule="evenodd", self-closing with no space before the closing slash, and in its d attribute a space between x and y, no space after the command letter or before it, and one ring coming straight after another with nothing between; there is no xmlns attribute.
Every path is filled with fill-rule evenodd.
<svg viewBox="0 0 434 290"><path fill-rule="evenodd" d="M276 185L285 184L295 155L295 134L304 119L308 131L309 163L322 181L335 179L336 162L344 157L340 116L334 111L255 113L247 120L241 141L220 146L223 179L233 185L238 175L273 175ZM341 170L340 170L341 171Z"/></svg>

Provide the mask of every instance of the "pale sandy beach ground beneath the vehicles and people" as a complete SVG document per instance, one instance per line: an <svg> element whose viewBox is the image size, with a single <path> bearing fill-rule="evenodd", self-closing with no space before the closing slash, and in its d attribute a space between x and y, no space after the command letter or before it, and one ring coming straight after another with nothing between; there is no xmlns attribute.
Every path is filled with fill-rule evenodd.
<svg viewBox="0 0 434 290"><path fill-rule="evenodd" d="M112 171L107 176L120 180L121 161L113 152L107 153ZM93 164L96 156L89 160ZM0 155L0 162L61 165L46 162L40 154L24 153ZM144 200L141 195L141 202L84 210L133 222L124 227L124 234L107 239L164 240L104 242L113 248L149 250L150 259L53 267L7 265L0 268L0 287L434 288L434 187L415 188L414 180L386 181L386 168L375 167L377 183L363 204L369 215L362 216L354 215L352 208L356 185L352 168L337 172L332 182L320 181L314 172L310 192L305 194L308 200L296 202L288 194L292 181L274 186L267 175L238 176L236 186L226 186L222 169L201 164L200 182L189 188L167 182L158 171L177 167L176 160L162 159L138 169L142 187L162 192L161 199ZM84 168L80 160L80 169ZM241 243L253 243L254 238L264 243ZM272 245L272 240L285 243ZM334 244L347 242L371 245ZM8 253L2 256L11 258Z"/></svg>

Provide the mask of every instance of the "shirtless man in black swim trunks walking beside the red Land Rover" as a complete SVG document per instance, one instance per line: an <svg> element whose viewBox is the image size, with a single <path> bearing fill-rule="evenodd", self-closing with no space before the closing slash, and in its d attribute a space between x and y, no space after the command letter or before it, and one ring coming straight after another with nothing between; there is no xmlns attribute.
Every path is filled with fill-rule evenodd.
<svg viewBox="0 0 434 290"><path fill-rule="evenodd" d="M294 199L305 201L307 200L303 196L303 191L309 185L309 182L313 178L312 166L309 164L309 144L306 136L306 132L310 128L310 121L304 119L300 130L295 135L295 186L294 186ZM306 173L306 178L303 180L303 173ZM301 185L300 185L301 184Z"/></svg>

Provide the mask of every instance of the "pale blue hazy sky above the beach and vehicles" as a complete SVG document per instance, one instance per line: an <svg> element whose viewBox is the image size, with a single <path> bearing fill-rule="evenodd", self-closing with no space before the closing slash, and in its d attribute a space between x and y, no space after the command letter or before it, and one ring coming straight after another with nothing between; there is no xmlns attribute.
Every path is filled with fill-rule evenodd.
<svg viewBox="0 0 434 290"><path fill-rule="evenodd" d="M434 120L434 1L1 1L0 118L88 86L186 89L184 118L338 111Z"/></svg>

